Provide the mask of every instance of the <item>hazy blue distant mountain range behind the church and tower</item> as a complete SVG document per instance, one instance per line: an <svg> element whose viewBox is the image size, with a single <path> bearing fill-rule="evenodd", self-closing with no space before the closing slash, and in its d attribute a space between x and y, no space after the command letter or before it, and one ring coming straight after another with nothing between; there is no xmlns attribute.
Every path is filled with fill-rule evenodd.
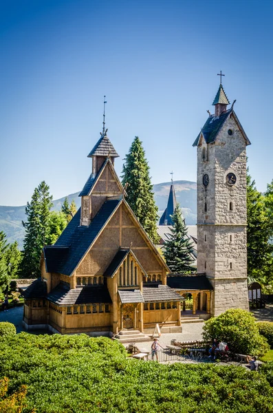
<svg viewBox="0 0 273 413"><path fill-rule="evenodd" d="M173 181L177 202L182 207L183 215L188 225L196 224L196 182L177 180ZM168 201L168 193L170 191L171 182L163 182L153 185L155 192L155 202L161 216L166 208ZM74 200L77 208L80 207L79 192L67 195L70 202ZM53 201L54 211L60 211L65 197ZM23 237L25 230L22 226L22 221L25 220L25 206L23 207L1 207L0 206L0 231L6 233L8 242L17 241L19 248L23 248Z"/></svg>

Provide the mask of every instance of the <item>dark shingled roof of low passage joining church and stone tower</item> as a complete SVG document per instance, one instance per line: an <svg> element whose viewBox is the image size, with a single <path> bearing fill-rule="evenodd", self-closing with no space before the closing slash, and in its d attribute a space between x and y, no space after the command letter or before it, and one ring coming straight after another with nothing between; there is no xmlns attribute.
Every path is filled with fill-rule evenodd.
<svg viewBox="0 0 273 413"><path fill-rule="evenodd" d="M167 285L174 290L213 290L206 275L171 275Z"/></svg>

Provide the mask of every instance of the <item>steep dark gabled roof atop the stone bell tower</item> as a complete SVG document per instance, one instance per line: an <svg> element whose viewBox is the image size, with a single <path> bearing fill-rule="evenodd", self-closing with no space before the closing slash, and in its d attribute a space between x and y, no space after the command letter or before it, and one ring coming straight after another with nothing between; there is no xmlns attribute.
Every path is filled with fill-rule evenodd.
<svg viewBox="0 0 273 413"><path fill-rule="evenodd" d="M195 139L195 142L193 142L193 147L199 145L201 136L204 137L204 140L206 140L206 143L215 142L219 134L219 131L221 131L223 124L226 122L229 116L232 116L235 122L237 123L241 131L241 134L243 135L243 138L245 139L245 145L250 145L250 140L248 139L248 136L246 136L245 131L243 130L243 127L241 123L239 122L239 119L237 118L237 115L235 114L234 110L231 107L225 112L222 112L220 116L215 116L215 115L208 116L208 119L206 120L204 127L202 127L201 132Z"/></svg>

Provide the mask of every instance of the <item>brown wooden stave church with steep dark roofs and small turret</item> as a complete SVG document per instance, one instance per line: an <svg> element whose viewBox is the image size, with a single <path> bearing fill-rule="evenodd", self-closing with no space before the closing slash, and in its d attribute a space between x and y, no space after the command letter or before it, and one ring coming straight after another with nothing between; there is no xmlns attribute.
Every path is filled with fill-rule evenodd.
<svg viewBox="0 0 273 413"><path fill-rule="evenodd" d="M182 297L167 285L170 270L125 200L107 130L88 157L81 208L43 248L41 279L24 293L25 329L111 337L160 324L162 332L181 332Z"/></svg>

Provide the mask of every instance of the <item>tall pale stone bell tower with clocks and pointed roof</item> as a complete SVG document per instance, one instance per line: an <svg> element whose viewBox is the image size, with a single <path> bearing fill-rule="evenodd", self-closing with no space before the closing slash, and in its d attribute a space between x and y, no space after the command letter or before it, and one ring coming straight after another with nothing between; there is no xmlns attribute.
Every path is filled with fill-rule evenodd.
<svg viewBox="0 0 273 413"><path fill-rule="evenodd" d="M221 75L223 76L223 75ZM246 146L250 141L223 86L197 147L197 273L214 287L211 315L248 310Z"/></svg>

